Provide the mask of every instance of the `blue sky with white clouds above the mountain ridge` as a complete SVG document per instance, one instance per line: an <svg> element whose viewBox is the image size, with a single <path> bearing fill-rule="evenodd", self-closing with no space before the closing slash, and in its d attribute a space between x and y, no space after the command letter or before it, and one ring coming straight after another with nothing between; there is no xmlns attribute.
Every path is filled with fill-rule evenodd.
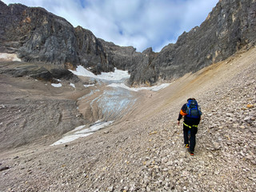
<svg viewBox="0 0 256 192"><path fill-rule="evenodd" d="M40 6L97 38L142 52L159 52L200 26L218 0L2 0Z"/></svg>

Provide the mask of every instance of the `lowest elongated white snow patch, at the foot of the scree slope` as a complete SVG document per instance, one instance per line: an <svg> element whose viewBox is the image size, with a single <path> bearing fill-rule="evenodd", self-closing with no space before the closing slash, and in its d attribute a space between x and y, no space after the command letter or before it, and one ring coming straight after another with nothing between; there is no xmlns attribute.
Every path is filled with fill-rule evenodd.
<svg viewBox="0 0 256 192"><path fill-rule="evenodd" d="M67 143L67 142L73 142L74 140L76 140L78 138L84 138L90 134L93 134L97 130L101 130L105 126L109 126L112 123L113 123L113 121L101 122L101 120L98 120L97 122L94 123L94 125L90 126L89 128L85 128L86 125L78 126L74 130L71 130L70 132L64 134L63 138L61 138L57 142L54 142L50 146L57 146L57 145L61 145L61 144Z"/></svg>

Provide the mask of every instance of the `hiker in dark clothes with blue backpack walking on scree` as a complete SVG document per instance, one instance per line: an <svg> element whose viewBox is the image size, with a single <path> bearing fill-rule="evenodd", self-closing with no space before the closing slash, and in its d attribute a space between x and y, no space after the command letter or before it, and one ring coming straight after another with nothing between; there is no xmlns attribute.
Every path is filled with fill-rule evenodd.
<svg viewBox="0 0 256 192"><path fill-rule="evenodd" d="M188 98L187 103L182 106L182 110L178 114L178 122L184 116L183 122L183 135L184 135L184 144L186 148L190 151L190 155L194 155L194 146L195 146L195 134L198 133L198 124L201 120L201 110L198 106L198 102L195 98ZM190 136L189 136L190 134Z"/></svg>

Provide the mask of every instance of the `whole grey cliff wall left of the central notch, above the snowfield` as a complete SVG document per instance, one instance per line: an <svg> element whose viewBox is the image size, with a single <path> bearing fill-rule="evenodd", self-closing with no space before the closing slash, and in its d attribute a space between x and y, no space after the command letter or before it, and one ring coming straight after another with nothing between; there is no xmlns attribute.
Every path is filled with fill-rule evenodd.
<svg viewBox="0 0 256 192"><path fill-rule="evenodd" d="M90 30L74 28L64 18L42 8L0 2L0 51L18 53L25 62L54 63L66 68L82 65L94 74L128 69L134 47L115 46L98 39ZM140 54L140 53L137 53Z"/></svg>

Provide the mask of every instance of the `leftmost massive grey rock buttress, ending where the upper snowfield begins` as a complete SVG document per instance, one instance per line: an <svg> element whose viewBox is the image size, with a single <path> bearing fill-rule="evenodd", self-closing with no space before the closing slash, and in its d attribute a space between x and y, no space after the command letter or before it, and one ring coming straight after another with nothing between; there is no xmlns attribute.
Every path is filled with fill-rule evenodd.
<svg viewBox="0 0 256 192"><path fill-rule="evenodd" d="M1 5L1 50L18 52L25 62L78 62L74 28L63 18L42 8L28 8L20 4Z"/></svg>

